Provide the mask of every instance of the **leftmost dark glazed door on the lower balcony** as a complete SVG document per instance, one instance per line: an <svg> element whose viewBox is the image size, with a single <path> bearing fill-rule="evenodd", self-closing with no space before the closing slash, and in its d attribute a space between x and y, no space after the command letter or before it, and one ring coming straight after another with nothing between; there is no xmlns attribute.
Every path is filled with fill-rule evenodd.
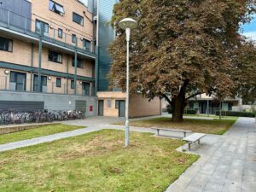
<svg viewBox="0 0 256 192"><path fill-rule="evenodd" d="M26 73L10 73L10 90L25 91L26 90Z"/></svg>

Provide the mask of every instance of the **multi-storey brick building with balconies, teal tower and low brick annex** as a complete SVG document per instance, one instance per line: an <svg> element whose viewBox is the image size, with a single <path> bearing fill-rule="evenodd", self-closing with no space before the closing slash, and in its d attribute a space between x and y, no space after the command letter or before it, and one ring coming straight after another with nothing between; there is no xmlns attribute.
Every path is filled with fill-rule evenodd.
<svg viewBox="0 0 256 192"><path fill-rule="evenodd" d="M86 116L124 116L125 93L108 90L108 45L114 40L108 21L114 3L1 0L0 109L78 109ZM132 108L137 101L148 105L141 96L131 96L131 116L160 113L160 107L155 113L150 105L150 113L137 113Z"/></svg>

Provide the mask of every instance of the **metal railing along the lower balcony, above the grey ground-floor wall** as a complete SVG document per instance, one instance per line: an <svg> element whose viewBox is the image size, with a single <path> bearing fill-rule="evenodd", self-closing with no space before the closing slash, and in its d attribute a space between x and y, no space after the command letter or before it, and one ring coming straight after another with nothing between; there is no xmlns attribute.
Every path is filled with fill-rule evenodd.
<svg viewBox="0 0 256 192"><path fill-rule="evenodd" d="M72 96L95 96L94 85L90 84L90 88L80 81L75 85L71 83L71 79L62 79L65 83L57 84L55 80L43 79L41 86L38 86L38 80L32 79L17 79L10 80L9 76L0 76L0 90L16 91L16 92L34 92L34 93L46 93L46 94L60 94L60 95L72 95Z"/></svg>

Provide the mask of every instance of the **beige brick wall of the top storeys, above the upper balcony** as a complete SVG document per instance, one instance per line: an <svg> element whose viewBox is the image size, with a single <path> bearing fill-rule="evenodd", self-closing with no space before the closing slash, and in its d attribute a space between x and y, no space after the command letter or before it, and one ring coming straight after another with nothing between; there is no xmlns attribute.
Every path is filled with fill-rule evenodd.
<svg viewBox="0 0 256 192"><path fill-rule="evenodd" d="M54 37L57 40L65 42L65 34L67 34L67 43L72 43L72 34L76 34L78 40L79 48L82 48L82 41L80 38L86 38L88 40L93 40L93 24L90 20L92 20L92 14L88 12L87 8L78 3L76 0L55 0L55 3L59 3L64 7L65 14L63 16L58 15L49 10L49 1L38 1L32 0L32 20L42 20L51 26L49 28L49 37ZM73 12L78 15L84 17L84 26L80 26L79 24L73 22ZM85 15L90 19L88 20ZM63 38L58 38L57 30L61 28L63 31ZM54 30L55 29L55 30ZM32 22L32 31L35 30L35 22Z"/></svg>

